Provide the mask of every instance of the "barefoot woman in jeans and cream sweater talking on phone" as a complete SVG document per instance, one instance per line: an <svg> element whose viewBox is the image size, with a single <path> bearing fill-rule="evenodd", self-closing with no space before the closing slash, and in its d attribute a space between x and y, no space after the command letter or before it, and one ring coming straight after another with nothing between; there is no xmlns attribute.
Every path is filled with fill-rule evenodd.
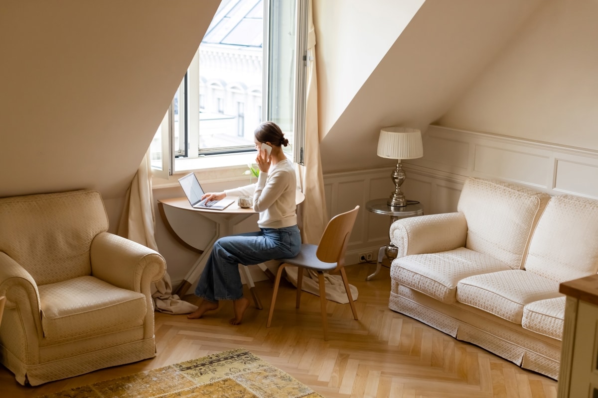
<svg viewBox="0 0 598 398"><path fill-rule="evenodd" d="M289 140L273 122L263 122L254 132L255 162L260 169L255 184L218 193L206 193L208 200L225 196L252 195L254 210L260 214L259 232L242 233L216 240L206 267L197 283L195 294L203 301L189 319L198 319L207 311L216 310L220 300L232 300L234 318L231 325L239 325L249 307L243 297L243 285L238 264L248 266L275 258L290 258L299 254L301 236L295 209L295 168L286 158L282 147ZM271 147L270 156L261 149L263 143Z"/></svg>

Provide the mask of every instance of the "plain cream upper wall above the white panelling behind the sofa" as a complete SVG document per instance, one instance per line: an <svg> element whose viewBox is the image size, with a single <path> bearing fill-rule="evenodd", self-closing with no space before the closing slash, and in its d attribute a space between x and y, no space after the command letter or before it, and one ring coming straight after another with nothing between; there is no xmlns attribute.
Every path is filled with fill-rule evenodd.
<svg viewBox="0 0 598 398"><path fill-rule="evenodd" d="M598 2L550 0L437 124L598 149Z"/></svg>

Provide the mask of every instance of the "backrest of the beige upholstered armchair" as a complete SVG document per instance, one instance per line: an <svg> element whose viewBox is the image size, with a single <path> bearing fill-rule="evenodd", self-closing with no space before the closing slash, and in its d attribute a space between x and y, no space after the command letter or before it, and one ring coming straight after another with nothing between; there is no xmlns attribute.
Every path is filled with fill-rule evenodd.
<svg viewBox="0 0 598 398"><path fill-rule="evenodd" d="M0 199L0 251L38 285L89 275L91 240L106 230L108 216L99 192Z"/></svg>

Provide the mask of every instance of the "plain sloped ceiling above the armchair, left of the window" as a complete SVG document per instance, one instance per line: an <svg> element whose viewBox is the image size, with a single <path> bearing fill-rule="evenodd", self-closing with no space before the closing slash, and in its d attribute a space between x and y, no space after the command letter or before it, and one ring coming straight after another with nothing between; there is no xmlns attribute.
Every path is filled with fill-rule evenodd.
<svg viewBox="0 0 598 398"><path fill-rule="evenodd" d="M123 197L218 5L0 2L0 197Z"/></svg>

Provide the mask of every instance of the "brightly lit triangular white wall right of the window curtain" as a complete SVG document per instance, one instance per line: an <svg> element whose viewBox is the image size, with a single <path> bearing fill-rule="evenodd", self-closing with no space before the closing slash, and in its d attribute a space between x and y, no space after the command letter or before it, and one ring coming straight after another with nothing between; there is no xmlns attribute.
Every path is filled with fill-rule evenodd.
<svg viewBox="0 0 598 398"><path fill-rule="evenodd" d="M313 0L321 137L424 1Z"/></svg>

